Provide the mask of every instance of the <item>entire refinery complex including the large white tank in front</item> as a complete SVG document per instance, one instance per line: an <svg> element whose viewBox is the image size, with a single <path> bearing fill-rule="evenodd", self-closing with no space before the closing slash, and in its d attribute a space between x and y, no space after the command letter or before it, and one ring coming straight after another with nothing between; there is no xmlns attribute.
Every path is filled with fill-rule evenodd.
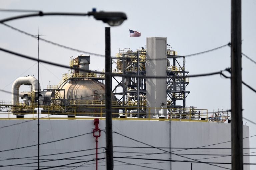
<svg viewBox="0 0 256 170"><path fill-rule="evenodd" d="M231 169L227 110L187 108L185 57L166 38L146 44L119 51L109 66L114 169ZM106 169L105 75L89 65L90 56L71 58L69 73L43 90L33 76L15 80L12 100L0 101L1 169ZM20 92L21 85L31 90ZM243 136L246 154L248 126Z"/></svg>

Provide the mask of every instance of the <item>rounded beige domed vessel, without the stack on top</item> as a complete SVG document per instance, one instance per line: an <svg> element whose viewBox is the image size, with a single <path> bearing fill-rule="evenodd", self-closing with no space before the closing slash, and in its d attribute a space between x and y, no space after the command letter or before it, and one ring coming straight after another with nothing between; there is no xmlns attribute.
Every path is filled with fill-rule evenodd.
<svg viewBox="0 0 256 170"><path fill-rule="evenodd" d="M73 79L62 89L65 91L67 111L75 112L79 116L105 117L105 85L101 82L91 79ZM116 101L113 93L112 101L113 103ZM119 116L115 114L118 110L112 110L112 112L112 117Z"/></svg>

